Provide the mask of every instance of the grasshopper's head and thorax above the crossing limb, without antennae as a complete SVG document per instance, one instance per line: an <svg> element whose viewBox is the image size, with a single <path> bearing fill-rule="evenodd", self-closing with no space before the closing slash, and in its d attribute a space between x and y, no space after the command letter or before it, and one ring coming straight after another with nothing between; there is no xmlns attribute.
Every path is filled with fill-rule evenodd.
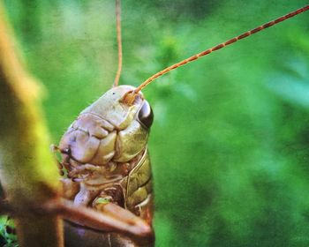
<svg viewBox="0 0 309 247"><path fill-rule="evenodd" d="M121 101L133 86L116 86L87 109L64 133L59 150L68 178L64 195L78 206L103 211L109 202L151 224L152 177L147 137L152 110L142 94Z"/></svg>

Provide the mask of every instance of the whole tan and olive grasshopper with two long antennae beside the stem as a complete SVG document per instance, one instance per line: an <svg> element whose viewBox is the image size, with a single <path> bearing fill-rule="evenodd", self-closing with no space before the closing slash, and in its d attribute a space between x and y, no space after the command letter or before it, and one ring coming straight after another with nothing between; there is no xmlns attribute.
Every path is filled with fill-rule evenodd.
<svg viewBox="0 0 309 247"><path fill-rule="evenodd" d="M120 206L151 226L153 179L147 138L154 115L141 90L165 73L307 10L309 5L201 51L134 87L118 86L122 49L120 1L117 0L118 71L114 85L81 111L57 147L62 153L61 174L66 176L62 180L64 197L71 199L74 205L91 206L102 213L109 213L105 208L110 204ZM80 246L81 242L83 246L139 246L127 236L109 231L98 233L71 223L66 225L66 239L66 246ZM150 241L149 245L153 244Z"/></svg>

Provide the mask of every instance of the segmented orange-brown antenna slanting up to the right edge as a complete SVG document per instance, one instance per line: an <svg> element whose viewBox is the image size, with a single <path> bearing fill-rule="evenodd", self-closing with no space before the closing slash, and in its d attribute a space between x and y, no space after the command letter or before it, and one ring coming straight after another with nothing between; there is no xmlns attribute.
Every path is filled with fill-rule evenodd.
<svg viewBox="0 0 309 247"><path fill-rule="evenodd" d="M261 25L261 26L258 26L258 27L255 27L254 29L248 31L248 32L245 32L244 34L240 34L232 39L230 39L229 41L225 41L225 42L222 42L221 44L218 44L216 45L215 47L211 48L211 49L207 49L207 50L204 50L194 56L190 56L188 58L186 58L185 60L183 61L180 61L179 63L177 64L173 64L171 65L170 67L167 67L165 68L164 70L162 71L159 71L157 73L155 73L155 75L153 75L152 77L148 78L147 80L145 80L142 84L140 84L135 90L134 90L134 93L137 94L139 93L140 90L142 90L145 86L147 86L150 82L152 82L154 79L157 79L159 77L161 77L163 74L166 74L167 72L170 72L172 70L175 70L176 68L182 66L182 65L185 65L185 64L188 64L196 59L198 59L199 57L201 56L206 56L210 53L212 53L213 51L215 50L218 50L218 49L222 49L236 41L239 41L239 40L242 40L252 34L256 34L258 32L260 32L261 30L264 30L265 28L268 28L269 26L274 26L275 24L278 24L279 22L282 22L283 20L286 20L286 19L290 19L291 17L293 16L296 16L304 11L308 11L309 10L309 5L306 5L305 7L303 8L300 8L298 9L297 11L292 11L278 19L275 19L275 20L272 20L272 21L269 21L268 23L264 24L264 25Z"/></svg>

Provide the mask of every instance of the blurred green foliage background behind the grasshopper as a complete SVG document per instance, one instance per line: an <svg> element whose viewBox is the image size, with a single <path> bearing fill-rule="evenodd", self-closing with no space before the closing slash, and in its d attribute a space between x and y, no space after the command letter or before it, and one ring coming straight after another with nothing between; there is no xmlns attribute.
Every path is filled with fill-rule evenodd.
<svg viewBox="0 0 309 247"><path fill-rule="evenodd" d="M110 88L115 4L4 1L46 89L52 142ZM298 9L307 1L122 3L121 84ZM185 65L144 90L156 246L309 246L309 13Z"/></svg>

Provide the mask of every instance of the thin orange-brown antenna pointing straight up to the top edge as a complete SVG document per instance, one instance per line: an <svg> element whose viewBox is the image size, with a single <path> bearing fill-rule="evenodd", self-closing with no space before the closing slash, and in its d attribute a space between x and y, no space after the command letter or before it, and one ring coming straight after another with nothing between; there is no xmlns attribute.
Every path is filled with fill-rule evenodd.
<svg viewBox="0 0 309 247"><path fill-rule="evenodd" d="M117 86L123 68L123 46L121 42L121 10L120 0L116 0L116 19L117 19L117 46L118 46L118 69L113 86Z"/></svg>

